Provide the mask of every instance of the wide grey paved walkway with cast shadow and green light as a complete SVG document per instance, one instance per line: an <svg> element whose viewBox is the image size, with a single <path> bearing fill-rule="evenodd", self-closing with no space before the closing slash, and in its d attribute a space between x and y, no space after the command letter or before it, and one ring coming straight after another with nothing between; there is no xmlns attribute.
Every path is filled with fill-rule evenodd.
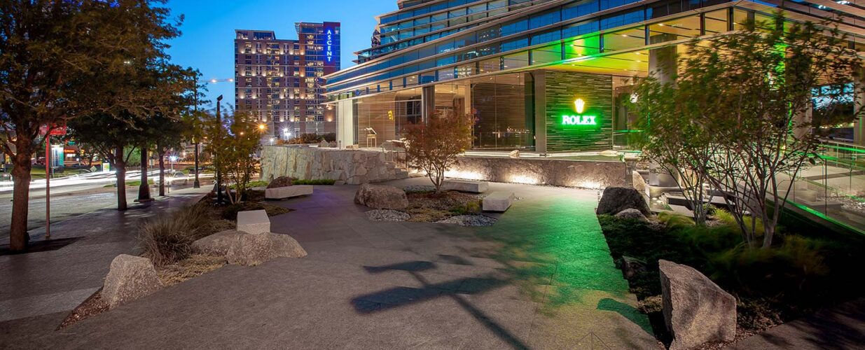
<svg viewBox="0 0 865 350"><path fill-rule="evenodd" d="M229 265L61 331L65 312L3 322L0 347L657 347L595 219L597 191L490 188L522 200L469 228L371 222L356 187L317 186L272 218L308 257Z"/></svg>

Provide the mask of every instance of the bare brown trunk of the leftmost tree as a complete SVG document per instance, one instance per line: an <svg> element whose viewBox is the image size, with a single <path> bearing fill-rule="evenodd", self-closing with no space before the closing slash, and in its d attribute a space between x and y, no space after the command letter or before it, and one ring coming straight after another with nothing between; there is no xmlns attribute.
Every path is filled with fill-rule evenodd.
<svg viewBox="0 0 865 350"><path fill-rule="evenodd" d="M10 251L23 251L27 249L29 241L27 212L29 210L30 195L30 156L32 155L29 145L32 141L24 137L23 134L18 135L18 139L16 140L17 153L12 157L12 165L15 168L12 168L14 189L12 192L12 222L9 236Z"/></svg>

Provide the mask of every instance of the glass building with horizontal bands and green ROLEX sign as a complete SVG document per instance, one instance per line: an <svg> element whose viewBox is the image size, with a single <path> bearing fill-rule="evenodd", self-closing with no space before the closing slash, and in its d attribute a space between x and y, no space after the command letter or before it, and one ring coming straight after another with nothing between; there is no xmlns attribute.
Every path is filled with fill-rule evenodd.
<svg viewBox="0 0 865 350"><path fill-rule="evenodd" d="M337 139L375 146L435 113L471 115L474 150L541 153L625 147L633 84L675 65L695 38L779 8L836 19L865 51L853 3L725 0L398 1L358 63L326 76ZM659 77L664 79L665 77ZM376 137L369 143L367 134ZM861 138L861 136L859 136Z"/></svg>

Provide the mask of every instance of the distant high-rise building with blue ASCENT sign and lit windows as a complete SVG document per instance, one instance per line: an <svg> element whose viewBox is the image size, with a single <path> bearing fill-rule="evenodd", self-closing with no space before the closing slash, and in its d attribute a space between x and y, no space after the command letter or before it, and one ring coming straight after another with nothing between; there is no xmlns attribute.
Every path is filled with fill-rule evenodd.
<svg viewBox="0 0 865 350"><path fill-rule="evenodd" d="M297 40L277 39L266 30L235 30L234 106L266 126L263 143L336 131L334 111L324 105L322 77L340 68L339 27L298 22Z"/></svg>

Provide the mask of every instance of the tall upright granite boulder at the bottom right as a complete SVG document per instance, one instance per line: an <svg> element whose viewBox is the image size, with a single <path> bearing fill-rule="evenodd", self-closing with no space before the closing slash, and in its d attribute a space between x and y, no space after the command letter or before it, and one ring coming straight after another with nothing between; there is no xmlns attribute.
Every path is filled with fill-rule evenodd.
<svg viewBox="0 0 865 350"><path fill-rule="evenodd" d="M673 335L670 350L734 340L736 299L733 296L690 266L663 259L658 261L658 266L663 319Z"/></svg>

